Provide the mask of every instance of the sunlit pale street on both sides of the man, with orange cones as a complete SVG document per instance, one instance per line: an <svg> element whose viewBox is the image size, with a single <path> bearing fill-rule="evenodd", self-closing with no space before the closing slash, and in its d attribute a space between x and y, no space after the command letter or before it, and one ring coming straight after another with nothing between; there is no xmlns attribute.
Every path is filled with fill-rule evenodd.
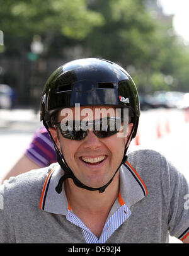
<svg viewBox="0 0 189 256"><path fill-rule="evenodd" d="M33 110L0 110L0 180L21 156L33 133L42 124ZM188 115L177 109L148 110L141 113L139 132L132 147L144 146L163 153L189 180ZM170 243L180 243L170 237Z"/></svg>

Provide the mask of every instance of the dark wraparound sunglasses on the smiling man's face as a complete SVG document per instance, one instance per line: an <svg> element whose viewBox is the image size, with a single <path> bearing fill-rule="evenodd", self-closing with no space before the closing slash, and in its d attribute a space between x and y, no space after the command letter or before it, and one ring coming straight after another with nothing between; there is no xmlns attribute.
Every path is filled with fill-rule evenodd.
<svg viewBox="0 0 189 256"><path fill-rule="evenodd" d="M81 141L88 136L89 130L100 138L113 136L120 131L122 122L121 117L106 117L91 121L68 120L67 122L58 122L55 124L55 128L59 128L63 137Z"/></svg>

